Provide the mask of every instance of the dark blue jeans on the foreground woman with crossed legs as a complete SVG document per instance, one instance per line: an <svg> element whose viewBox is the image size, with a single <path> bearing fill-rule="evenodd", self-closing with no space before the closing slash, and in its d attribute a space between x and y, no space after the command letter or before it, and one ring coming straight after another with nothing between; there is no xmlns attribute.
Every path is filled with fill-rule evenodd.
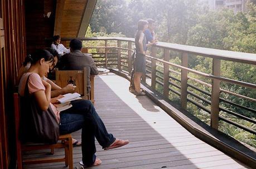
<svg viewBox="0 0 256 169"><path fill-rule="evenodd" d="M72 107L60 113L60 134L72 133L82 128L83 163L91 166L96 159L95 137L102 148L110 146L115 138L108 133L90 101L76 100L71 105Z"/></svg>

